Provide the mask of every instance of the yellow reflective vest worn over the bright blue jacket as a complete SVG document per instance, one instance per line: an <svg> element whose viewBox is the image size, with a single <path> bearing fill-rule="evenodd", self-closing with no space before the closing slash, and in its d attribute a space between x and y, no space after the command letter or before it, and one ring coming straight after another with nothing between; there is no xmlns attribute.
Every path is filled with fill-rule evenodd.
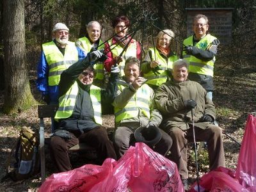
<svg viewBox="0 0 256 192"><path fill-rule="evenodd" d="M42 48L49 66L48 84L58 85L61 73L78 61L76 45L74 42L68 42L64 56L54 42L43 44Z"/></svg>

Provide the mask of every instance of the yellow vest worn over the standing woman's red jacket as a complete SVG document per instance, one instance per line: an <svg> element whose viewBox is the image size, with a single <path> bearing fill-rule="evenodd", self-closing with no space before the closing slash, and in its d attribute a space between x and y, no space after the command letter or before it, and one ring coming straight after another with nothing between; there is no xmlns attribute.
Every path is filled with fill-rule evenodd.
<svg viewBox="0 0 256 192"><path fill-rule="evenodd" d="M119 56L121 54L121 52L124 50L124 48L121 45L118 45L118 42L116 42L116 44L113 44L112 38L111 38L111 40L108 41L108 44L109 44L111 52L113 54L113 58L115 58L116 56ZM113 48L113 47L115 47L115 48ZM122 62L119 63L118 67L120 68L121 76L124 76L125 60L127 60L129 57L135 57L135 58L137 57L137 44L136 44L135 40L133 43L129 44L129 46L127 47L126 51L122 54L122 56L124 57L124 59Z"/></svg>

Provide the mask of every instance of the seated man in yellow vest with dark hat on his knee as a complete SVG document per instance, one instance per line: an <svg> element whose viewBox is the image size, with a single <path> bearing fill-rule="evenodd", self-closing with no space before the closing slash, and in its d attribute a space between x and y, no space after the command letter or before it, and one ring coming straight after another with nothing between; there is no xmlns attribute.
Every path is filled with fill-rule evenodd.
<svg viewBox="0 0 256 192"><path fill-rule="evenodd" d="M161 113L154 104L154 92L140 75L140 61L130 57L125 61L125 76L118 80L118 92L113 106L115 109L114 147L116 156L122 157L130 145L134 144L134 131L138 127L161 123ZM158 128L157 128L158 129ZM161 131L161 129L160 129ZM161 140L154 150L165 156L172 146L172 140L161 131Z"/></svg>

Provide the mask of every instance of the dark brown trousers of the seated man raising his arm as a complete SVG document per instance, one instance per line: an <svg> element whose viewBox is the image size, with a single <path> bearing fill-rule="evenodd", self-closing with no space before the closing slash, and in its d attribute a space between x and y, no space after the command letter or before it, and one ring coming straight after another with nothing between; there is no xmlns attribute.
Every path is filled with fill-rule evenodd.
<svg viewBox="0 0 256 192"><path fill-rule="evenodd" d="M67 172L72 170L68 149L78 143L86 143L97 150L100 163L110 157L116 159L113 143L108 138L108 132L105 127L98 126L83 134L72 134L72 138L65 139L59 136L51 138L51 158L58 169L58 172Z"/></svg>

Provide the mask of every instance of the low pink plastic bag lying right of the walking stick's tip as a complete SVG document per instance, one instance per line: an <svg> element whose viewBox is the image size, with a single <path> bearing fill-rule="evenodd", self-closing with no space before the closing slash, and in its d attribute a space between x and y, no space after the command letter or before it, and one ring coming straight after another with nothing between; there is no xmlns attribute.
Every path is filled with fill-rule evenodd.
<svg viewBox="0 0 256 192"><path fill-rule="evenodd" d="M199 181L200 191L247 191L235 178L234 170L219 167L209 173L205 173ZM197 182L189 189L189 192L198 191Z"/></svg>

